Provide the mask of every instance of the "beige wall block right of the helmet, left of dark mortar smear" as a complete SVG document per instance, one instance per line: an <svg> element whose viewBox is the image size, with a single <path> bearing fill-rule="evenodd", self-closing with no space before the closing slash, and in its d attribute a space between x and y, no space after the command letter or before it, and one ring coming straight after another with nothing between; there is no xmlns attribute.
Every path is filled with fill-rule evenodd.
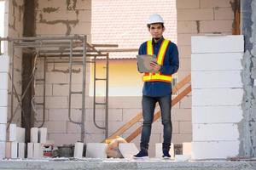
<svg viewBox="0 0 256 170"><path fill-rule="evenodd" d="M177 20L177 33L198 33L199 30L196 21L181 21ZM178 38L178 35L177 35ZM178 42L178 40L177 40Z"/></svg>

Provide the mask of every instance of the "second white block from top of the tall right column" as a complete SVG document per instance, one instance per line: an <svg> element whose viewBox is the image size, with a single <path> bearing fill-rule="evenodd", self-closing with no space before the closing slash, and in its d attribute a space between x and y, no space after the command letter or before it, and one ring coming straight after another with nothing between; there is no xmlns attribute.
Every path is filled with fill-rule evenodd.
<svg viewBox="0 0 256 170"><path fill-rule="evenodd" d="M243 53L191 54L191 71L241 71L242 55Z"/></svg>

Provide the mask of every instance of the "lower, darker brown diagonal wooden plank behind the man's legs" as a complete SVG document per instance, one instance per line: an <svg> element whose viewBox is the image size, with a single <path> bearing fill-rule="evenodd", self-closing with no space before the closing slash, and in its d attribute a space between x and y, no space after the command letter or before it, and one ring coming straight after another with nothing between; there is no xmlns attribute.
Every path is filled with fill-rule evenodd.
<svg viewBox="0 0 256 170"><path fill-rule="evenodd" d="M172 106L176 105L183 97L185 97L187 94L191 92L191 85L189 85L188 88L185 88L182 93L178 94L176 98L172 99ZM160 111L156 112L154 114L154 121L160 118ZM139 135L142 132L142 126L138 127L133 133L131 133L125 140L127 142L131 142L131 140L135 139L137 135Z"/></svg>

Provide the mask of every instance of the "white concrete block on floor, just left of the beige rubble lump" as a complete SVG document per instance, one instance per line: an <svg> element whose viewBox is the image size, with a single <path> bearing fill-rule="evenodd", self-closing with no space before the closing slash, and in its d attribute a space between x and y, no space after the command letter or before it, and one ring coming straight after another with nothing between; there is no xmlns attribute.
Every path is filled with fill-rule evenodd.
<svg viewBox="0 0 256 170"><path fill-rule="evenodd" d="M91 158L107 158L106 148L108 144L103 143L87 143L86 157Z"/></svg>

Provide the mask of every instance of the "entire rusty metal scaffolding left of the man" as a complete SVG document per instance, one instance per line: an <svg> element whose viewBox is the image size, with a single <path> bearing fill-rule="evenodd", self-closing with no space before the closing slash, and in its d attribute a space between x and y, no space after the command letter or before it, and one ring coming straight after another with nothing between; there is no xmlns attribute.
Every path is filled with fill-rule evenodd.
<svg viewBox="0 0 256 170"><path fill-rule="evenodd" d="M96 127L105 130L105 137L108 138L108 51L103 52L96 47L117 47L117 45L107 45L107 44L90 44L87 42L87 37L85 35L74 35L68 37L20 37L20 38L11 38L11 37L0 37L0 44L2 41L10 42L11 46L11 73L9 77L11 79L11 118L9 123L12 122L17 109L21 107L21 100L24 98L24 94L28 87L32 84L32 82L43 82L43 102L36 103L36 105L43 106L43 122L40 127L44 126L45 122L45 95L46 95L46 67L50 62L55 63L68 63L68 72L69 72L69 92L68 92L68 119L70 122L75 124L79 124L81 127L81 142L84 142L84 134L85 134L85 82L86 82L86 63L94 64L94 96L93 96L93 120ZM22 48L23 53L32 53L36 54L35 65L32 70L32 76L30 77L30 82L27 85L26 91L24 94L19 97L15 88L15 77L14 77L14 65L15 65L15 48ZM1 49L0 49L0 54ZM98 78L96 77L96 59L97 57L101 57L101 59L106 59L106 77ZM37 63L37 58L44 59L44 78L35 79L35 67ZM82 89L81 91L73 91L72 90L72 80L73 80L73 65L81 65L82 66ZM106 82L106 94L104 102L96 101L96 81L105 81ZM71 103L72 103L72 95L80 94L82 97L82 115L81 122L76 122L72 119L71 114ZM19 105L14 108L14 98L17 98ZM33 102L32 102L33 103ZM105 107L105 126L100 127L96 124L96 105L104 105ZM15 110L14 110L15 109ZM26 118L25 118L26 120Z"/></svg>

